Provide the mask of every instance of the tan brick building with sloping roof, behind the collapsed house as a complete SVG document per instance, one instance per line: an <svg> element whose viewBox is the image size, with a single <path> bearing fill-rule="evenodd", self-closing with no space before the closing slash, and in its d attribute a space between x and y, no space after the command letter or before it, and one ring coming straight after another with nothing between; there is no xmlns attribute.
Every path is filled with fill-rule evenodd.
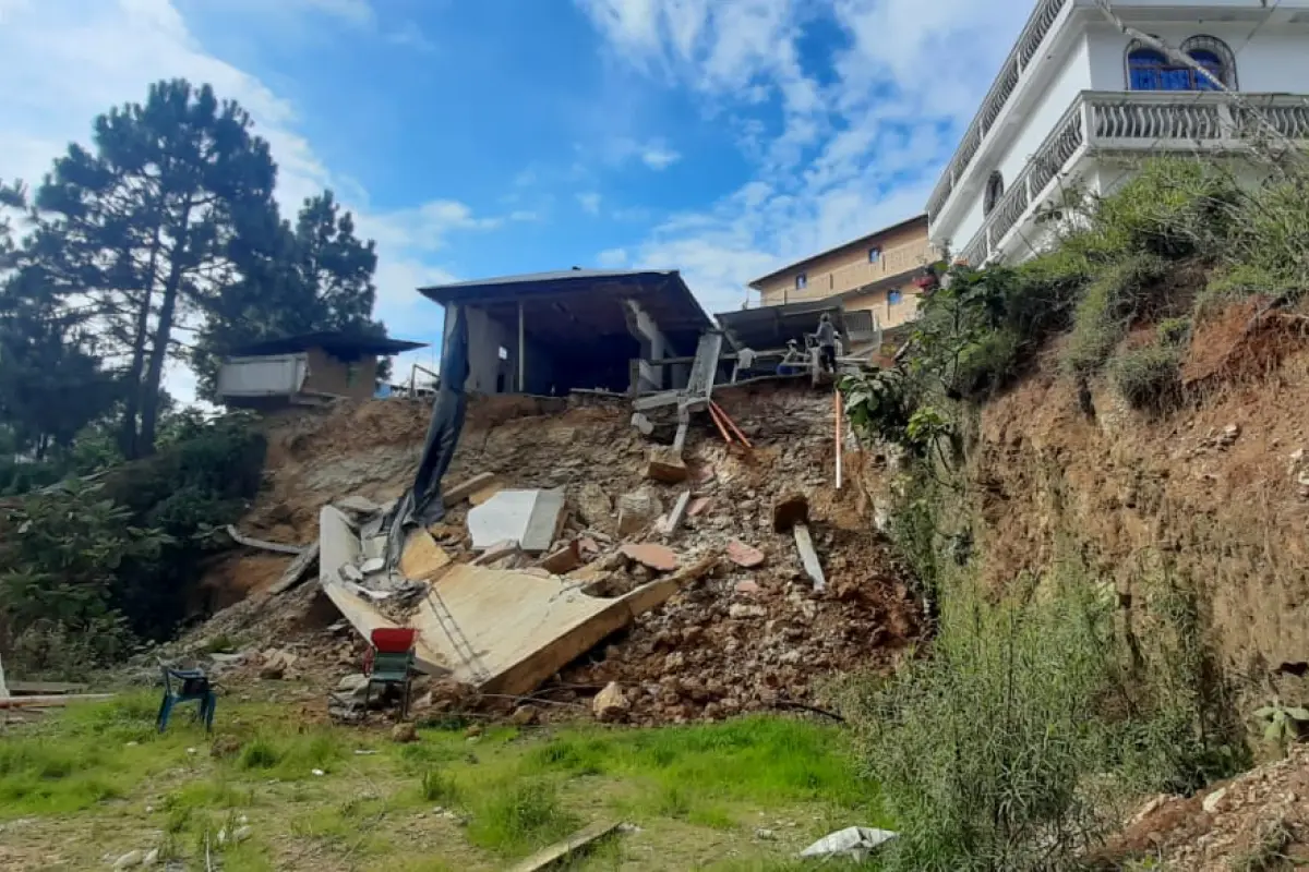
<svg viewBox="0 0 1309 872"><path fill-rule="evenodd" d="M936 260L920 214L755 278L762 306L840 297L847 312L870 311L882 329L918 314L915 276Z"/></svg>

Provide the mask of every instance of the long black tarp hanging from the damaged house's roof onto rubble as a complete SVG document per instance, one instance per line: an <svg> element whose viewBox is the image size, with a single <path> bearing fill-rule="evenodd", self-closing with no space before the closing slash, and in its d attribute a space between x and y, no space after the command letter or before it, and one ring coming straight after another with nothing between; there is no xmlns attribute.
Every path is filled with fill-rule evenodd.
<svg viewBox="0 0 1309 872"><path fill-rule="evenodd" d="M450 468L454 448L463 430L463 414L469 399L463 383L469 380L469 320L463 306L453 306L450 329L441 350L441 384L432 407L432 422L427 428L423 459L418 464L414 485L397 503L391 515L386 541L386 563L399 565L404 539L410 529L428 527L445 516L441 499L441 477Z"/></svg>

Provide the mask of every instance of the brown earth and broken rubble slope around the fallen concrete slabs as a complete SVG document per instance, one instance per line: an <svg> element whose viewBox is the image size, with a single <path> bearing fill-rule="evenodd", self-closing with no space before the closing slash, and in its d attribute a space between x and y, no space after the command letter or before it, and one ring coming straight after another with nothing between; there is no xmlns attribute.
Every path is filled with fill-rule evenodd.
<svg viewBox="0 0 1309 872"><path fill-rule="evenodd" d="M603 718L631 723L812 703L833 673L888 669L916 638L920 607L877 539L867 499L851 481L835 490L831 395L763 384L723 390L716 399L753 448L728 446L708 420L696 421L682 454L685 476L669 475L668 451L656 442L672 428L658 421L645 435L620 399L538 408L517 397L517 405L497 408L492 397L470 407L444 481L487 482L429 528L452 565L528 571L556 578L565 595L580 590L600 597L623 596L691 565L711 567L531 694L572 703L545 714L589 707L584 698L611 684ZM288 424L270 437L276 450L268 486L243 526L305 543L317 535L312 512L326 503L380 505L399 497L418 463L425 416L421 404L387 400L342 407L309 425ZM497 556L486 543L474 548L469 512L509 489L563 492L562 522L545 552L507 548ZM791 535L774 529L774 503L795 493L810 506L809 528L827 580L821 592ZM335 688L355 671L346 660L357 663L360 641L340 635L339 616L331 618L331 603L317 587L257 592L202 633L253 638L258 652L288 650L296 662L283 667L283 677ZM312 611L326 617L310 620ZM263 658L257 660L262 669ZM457 705L466 705L459 696ZM456 701L424 694L415 714L428 705L444 709Z"/></svg>

